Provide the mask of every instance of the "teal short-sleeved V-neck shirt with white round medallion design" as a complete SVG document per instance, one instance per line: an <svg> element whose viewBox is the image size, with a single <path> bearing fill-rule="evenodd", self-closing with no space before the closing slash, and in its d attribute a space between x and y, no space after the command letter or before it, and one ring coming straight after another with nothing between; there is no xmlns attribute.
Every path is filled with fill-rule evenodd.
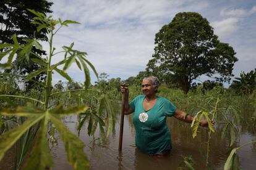
<svg viewBox="0 0 256 170"><path fill-rule="evenodd" d="M176 107L168 99L157 97L150 110L144 110L145 95L138 95L130 107L134 110L135 144L144 153L155 155L171 149L171 133L166 116L173 116Z"/></svg>

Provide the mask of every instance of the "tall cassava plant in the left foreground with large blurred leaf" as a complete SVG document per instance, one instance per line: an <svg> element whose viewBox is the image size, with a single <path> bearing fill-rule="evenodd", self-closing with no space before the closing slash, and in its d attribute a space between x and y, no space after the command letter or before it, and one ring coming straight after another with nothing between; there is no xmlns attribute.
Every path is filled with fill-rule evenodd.
<svg viewBox="0 0 256 170"><path fill-rule="evenodd" d="M58 105L50 105L51 97L53 97L52 90L52 75L53 71L56 71L67 79L67 81L72 82L72 78L66 73L66 70L70 67L72 63L76 63L80 70L83 70L85 74L85 89L80 89L80 91L86 91L90 85L90 73L88 66L92 68L95 75L98 77L95 68L92 63L86 59L86 52L80 52L72 49L74 43L69 47L63 46L62 51L55 52L56 48L53 47L53 38L56 33L62 28L62 26L68 26L71 23L78 23L72 20L54 20L53 16L46 17L46 15L35 12L35 10L30 10L35 17L33 18L33 24L37 25L37 31L46 30L48 33L48 43L49 52L48 56L41 57L40 55L32 52L32 48L42 49L42 46L38 39L23 39L27 44L20 44L17 41L17 36L14 34L12 36L13 44L5 43L0 44L0 61L7 56L7 62L1 63L0 67L3 69L9 69L12 67L12 60L14 57L25 56L27 60L33 60L41 66L40 69L33 71L26 76L27 79L32 79L36 75L39 75L43 71L46 72L44 95L43 97L38 97L38 99L27 97L23 95L9 95L1 94L0 99L10 102L11 98L23 99L27 102L26 105L12 105L9 108L1 108L1 116L16 116L25 118L25 121L20 124L19 127L11 129L4 132L0 137L0 161L4 157L4 154L13 147L13 145L20 140L30 128L36 128L36 125L40 124L38 132L36 134L35 142L28 156L25 164L23 164L23 169L49 169L53 166L53 158L50 154L48 145L48 124L51 122L54 124L58 130L61 139L64 142L67 161L73 166L74 169L88 169L89 161L87 156L83 152L84 144L75 134L72 134L66 126L61 121L61 118L66 115L73 115L76 113L85 113L88 109L87 105L78 105L76 107L64 108L61 103ZM52 63L53 57L57 54L64 54L64 59L58 63ZM33 59L30 56L33 55Z"/></svg>

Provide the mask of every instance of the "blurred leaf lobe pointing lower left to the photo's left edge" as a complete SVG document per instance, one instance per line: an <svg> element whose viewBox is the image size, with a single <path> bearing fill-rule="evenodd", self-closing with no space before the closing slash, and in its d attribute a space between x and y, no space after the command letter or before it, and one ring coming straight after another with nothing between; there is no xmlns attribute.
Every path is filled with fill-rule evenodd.
<svg viewBox="0 0 256 170"><path fill-rule="evenodd" d="M0 161L2 160L4 154L12 147L12 145L20 139L22 134L24 134L30 127L35 123L40 121L44 115L35 115L31 116L25 121L22 125L15 129L5 132L0 136Z"/></svg>

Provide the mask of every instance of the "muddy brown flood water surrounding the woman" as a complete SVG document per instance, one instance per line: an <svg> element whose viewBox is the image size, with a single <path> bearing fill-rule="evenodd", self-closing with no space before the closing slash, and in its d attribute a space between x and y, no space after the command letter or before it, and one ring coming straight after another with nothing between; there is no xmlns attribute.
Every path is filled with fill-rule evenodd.
<svg viewBox="0 0 256 170"><path fill-rule="evenodd" d="M64 119L64 124L70 131L77 134L77 116L69 116ZM119 145L119 118L114 132L109 136L106 144L92 142L92 137L87 135L87 124L80 131L80 139L85 143L84 151L90 160L90 169L176 169L184 160L182 156L192 156L195 169L208 169L205 166L207 151L208 130L200 127L195 139L192 138L190 124L183 123L176 118L167 119L171 131L173 149L165 158L145 155L135 147L135 129L132 124L132 115L124 118L124 137L122 152L118 151ZM211 169L224 169L224 163L228 158L229 140L221 140L221 132L213 133L209 154L209 166ZM99 137L95 132L95 139ZM72 169L67 163L64 145L58 134L56 143L51 145L51 153L54 157L53 169ZM241 139L236 147L250 140L256 140L255 134L241 132ZM239 165L242 169L256 169L256 145L249 144L238 151ZM184 167L184 165L183 165Z"/></svg>

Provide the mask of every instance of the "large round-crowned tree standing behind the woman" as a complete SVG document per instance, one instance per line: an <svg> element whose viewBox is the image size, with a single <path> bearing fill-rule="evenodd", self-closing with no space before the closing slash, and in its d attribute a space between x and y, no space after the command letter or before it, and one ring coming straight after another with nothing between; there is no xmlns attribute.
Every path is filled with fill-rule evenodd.
<svg viewBox="0 0 256 170"><path fill-rule="evenodd" d="M233 47L220 42L206 18L197 12L176 14L155 36L155 53L147 71L160 79L178 83L187 93L200 75L230 81L237 58ZM219 76L216 76L216 75Z"/></svg>

